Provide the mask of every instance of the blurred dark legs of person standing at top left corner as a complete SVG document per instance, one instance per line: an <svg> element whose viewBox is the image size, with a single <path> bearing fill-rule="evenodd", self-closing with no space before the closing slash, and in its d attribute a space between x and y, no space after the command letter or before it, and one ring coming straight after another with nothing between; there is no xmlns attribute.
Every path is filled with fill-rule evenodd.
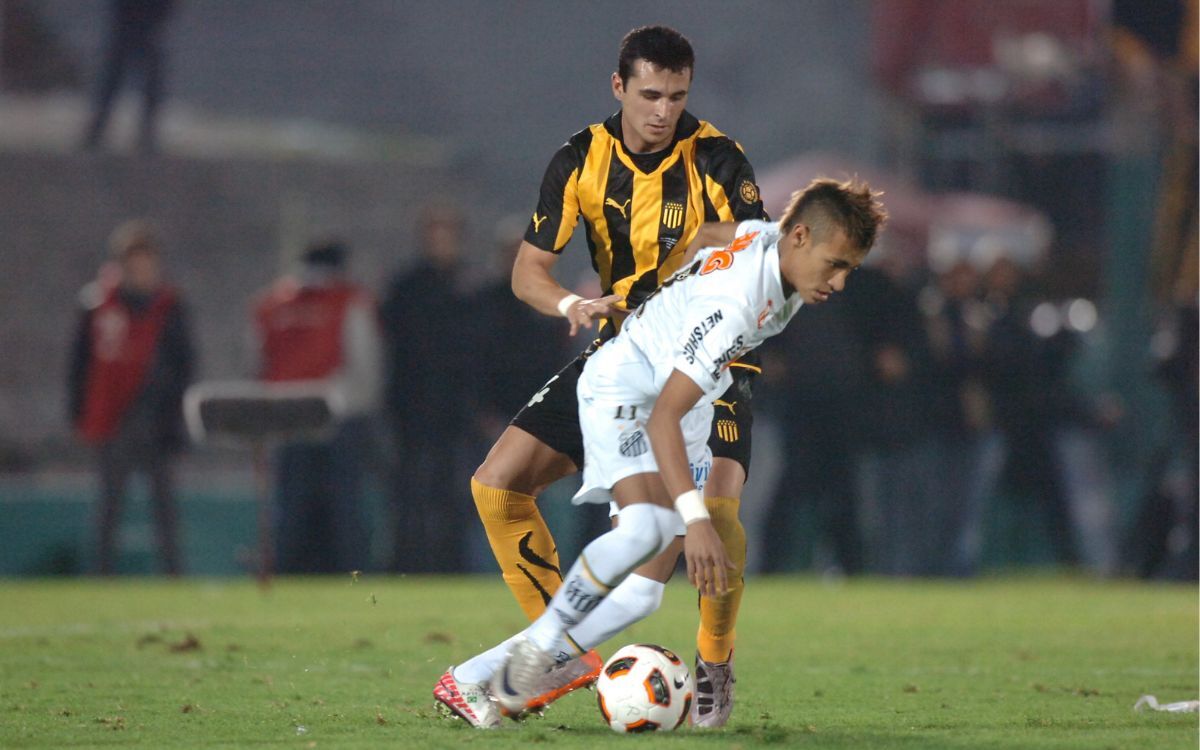
<svg viewBox="0 0 1200 750"><path fill-rule="evenodd" d="M100 145L121 83L137 68L142 85L142 120L138 150L152 152L158 145L157 114L163 91L163 35L174 0L110 0L104 66L96 86L91 121L84 148Z"/></svg>

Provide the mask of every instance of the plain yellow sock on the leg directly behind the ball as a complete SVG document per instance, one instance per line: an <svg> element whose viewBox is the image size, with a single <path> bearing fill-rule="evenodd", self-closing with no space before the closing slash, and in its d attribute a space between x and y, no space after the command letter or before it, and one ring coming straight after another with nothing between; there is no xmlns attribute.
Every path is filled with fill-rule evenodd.
<svg viewBox="0 0 1200 750"><path fill-rule="evenodd" d="M725 553L737 566L730 571L730 590L720 596L700 598L700 630L696 650L704 661L728 661L733 653L734 625L745 589L746 530L738 520L740 500L734 497L704 498L713 527L725 544Z"/></svg>

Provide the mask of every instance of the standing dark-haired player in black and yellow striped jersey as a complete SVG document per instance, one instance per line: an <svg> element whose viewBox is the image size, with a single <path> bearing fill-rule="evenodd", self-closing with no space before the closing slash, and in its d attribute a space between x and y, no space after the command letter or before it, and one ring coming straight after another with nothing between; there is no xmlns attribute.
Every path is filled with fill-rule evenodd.
<svg viewBox="0 0 1200 750"><path fill-rule="evenodd" d="M673 29L630 31L612 74L620 110L572 136L551 158L512 268L512 289L538 311L565 317L571 334L599 320L598 342L611 337L624 313L680 266L703 222L766 218L742 149L685 109L694 67L691 46ZM551 274L580 217L604 290L593 300L569 293ZM533 395L472 480L492 551L529 619L541 614L562 582L554 540L535 498L583 466L575 388L586 356ZM732 706L734 622L745 568L738 503L750 463L756 371L752 362L736 362L734 385L716 403L710 439L706 504L737 569L728 592L700 602L692 720L701 726L724 725ZM673 546L640 568L626 600L611 606L631 616L655 607L678 551ZM599 664L593 667L592 678ZM586 684L588 676L577 682Z"/></svg>

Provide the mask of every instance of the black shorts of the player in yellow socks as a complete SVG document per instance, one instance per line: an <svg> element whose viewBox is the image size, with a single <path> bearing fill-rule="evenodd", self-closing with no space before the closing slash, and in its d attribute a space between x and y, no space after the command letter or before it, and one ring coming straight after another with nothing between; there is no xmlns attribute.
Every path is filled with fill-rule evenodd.
<svg viewBox="0 0 1200 750"><path fill-rule="evenodd" d="M577 468L583 466L583 433L580 431L580 403L575 386L588 354L578 355L558 371L529 398L509 424L565 454ZM743 364L745 362L745 364ZM732 458L750 476L751 385L760 372L757 360L742 360L730 368L733 385L714 402L713 431L708 446L714 458Z"/></svg>

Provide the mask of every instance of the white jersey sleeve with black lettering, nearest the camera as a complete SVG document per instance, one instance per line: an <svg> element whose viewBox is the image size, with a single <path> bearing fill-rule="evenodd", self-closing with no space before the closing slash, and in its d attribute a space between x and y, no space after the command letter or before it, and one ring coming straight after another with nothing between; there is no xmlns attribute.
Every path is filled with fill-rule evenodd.
<svg viewBox="0 0 1200 750"><path fill-rule="evenodd" d="M721 373L749 349L750 325L745 305L730 298L700 298L689 304L690 325L684 328L673 367L704 391L713 390Z"/></svg>

